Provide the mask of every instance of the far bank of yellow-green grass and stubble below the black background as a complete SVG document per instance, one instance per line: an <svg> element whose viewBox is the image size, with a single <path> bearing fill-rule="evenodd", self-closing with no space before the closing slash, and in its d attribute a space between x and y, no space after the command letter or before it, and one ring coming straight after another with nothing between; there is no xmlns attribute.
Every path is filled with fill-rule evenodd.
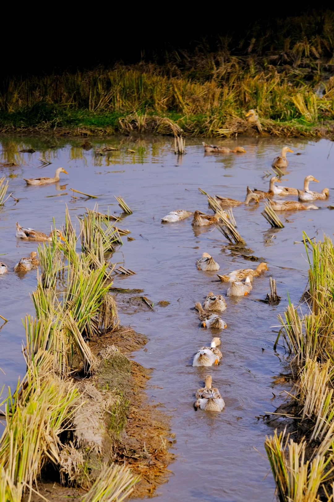
<svg viewBox="0 0 334 502"><path fill-rule="evenodd" d="M151 62L3 79L0 132L170 134L167 117L191 136L334 137L334 13L270 23Z"/></svg>

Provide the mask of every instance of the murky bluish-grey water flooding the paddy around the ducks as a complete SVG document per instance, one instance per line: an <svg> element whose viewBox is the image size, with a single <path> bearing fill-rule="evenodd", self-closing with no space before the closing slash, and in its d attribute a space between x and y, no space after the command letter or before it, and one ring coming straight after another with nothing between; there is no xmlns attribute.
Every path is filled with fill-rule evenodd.
<svg viewBox="0 0 334 502"><path fill-rule="evenodd" d="M170 138L93 141L97 147L121 143L121 151L108 157L95 157L92 150L82 150L82 140L2 137L0 141L0 162L19 165L1 168L1 173L10 176L10 191L20 199L16 203L11 198L0 209L0 253L5 254L0 260L9 268L8 274L0 276L0 314L9 319L0 331L0 367L5 371L5 375L0 373L0 385L13 386L24 374L21 317L27 312L34 314L29 294L35 289L36 273L18 276L13 267L37 244L17 239L15 222L49 232L53 217L59 227L64 222L65 203L75 220L75 215L83 214L86 207L93 208L96 201L100 211L106 212L109 207L110 212L119 212L113 195L122 195L133 214L119 226L131 230L136 240L124 237L124 245L112 260L123 264L124 259L125 267L137 274L117 277L114 284L144 289L155 311L127 309L123 295L118 294L121 322L149 337L146 348L134 357L155 368L149 397L152 404L160 404L171 416L177 439L177 461L171 465L173 473L168 483L158 490L159 499L272 500L274 482L263 448L265 435L271 430L255 416L273 411L282 400L282 389L272 384L284 361L284 349L272 349L276 315L287 304L287 291L291 301L298 303L307 280L303 245L293 242L301 240L302 230L310 237L321 237L322 231L332 235L334 212L325 209L328 202L318 201L321 210L286 213L281 218L285 228L271 230L259 207L233 209L247 248L268 263L282 301L277 307L256 301L265 298L269 273L254 280L249 297L227 299L228 308L222 316L228 325L221 333L223 359L218 367L210 369L226 408L215 415L195 412L193 408L194 392L202 386L208 369L193 368L192 357L201 345L210 343L214 333L199 326L192 308L209 291L224 293L226 287L216 282L215 273L197 271L195 262L205 251L219 263L221 273L256 263L232 255L217 229L193 228L191 219L174 224L161 224L160 219L170 210L181 208L211 213L198 187L239 200L244 199L247 185L267 188L268 178L263 179L263 171L270 170L273 157L286 141L229 140L227 146L242 145L247 153L217 156L204 155L200 140L187 140L187 154L182 159L171 151ZM331 142L287 143L301 155L290 154L283 178L286 186L301 187L308 174L320 180L320 189L334 186ZM19 153L25 148L37 152ZM127 153L127 148L135 153ZM39 157L52 164L39 167ZM61 175L60 184L26 186L23 178L53 176L60 166L69 173ZM318 189L314 185L311 188ZM74 199L70 188L99 198ZM330 190L329 204L334 204L333 198L334 191ZM161 300L170 304L160 307L157 303Z"/></svg>

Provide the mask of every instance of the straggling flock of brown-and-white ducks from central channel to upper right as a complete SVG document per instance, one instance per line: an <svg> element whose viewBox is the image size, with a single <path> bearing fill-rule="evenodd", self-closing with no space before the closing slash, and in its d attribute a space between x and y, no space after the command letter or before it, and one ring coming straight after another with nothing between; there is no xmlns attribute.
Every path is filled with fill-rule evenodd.
<svg viewBox="0 0 334 502"><path fill-rule="evenodd" d="M254 112L254 110L250 110ZM248 117L250 121L258 120L258 117L254 113L250 113ZM217 152L217 153L245 153L245 150L241 147L237 147L233 150L217 147L215 145L207 145L203 143L206 152ZM281 154L277 156L273 162L272 167L278 169L286 168L288 165L288 160L286 154L288 152L293 153L293 151L288 147L283 147ZM304 179L303 189L298 189L294 187L277 186L275 183L281 183L278 177L273 176L269 181L269 190L259 190L254 188L250 190L247 187L247 193L244 201L239 201L231 199L229 197L222 197L219 195L215 196L215 200L218 202L220 207L233 207L239 206L241 204L248 205L251 202L259 204L260 200L268 199L270 200L271 207L276 211L286 211L286 210L300 210L300 209L318 209L313 204L303 204L303 202L310 202L316 199L326 199L329 195L328 188L324 188L321 192L315 192L309 189L309 184L319 181L313 176L308 175ZM298 196L298 201L286 201L286 200L272 200L274 196ZM194 212L186 211L184 209L178 209L171 211L169 214L162 218L164 223L173 223L180 221L192 216L193 226L208 226L214 225L219 221L218 214L205 214L202 211L195 210ZM219 264L210 256L208 253L203 253L202 257L196 261L196 267L199 271L219 271ZM227 274L219 275L218 278L228 284L228 289L226 291L226 296L247 296L252 290L252 281L254 278L259 277L263 272L267 271L268 267L266 263L260 263L256 269L238 269L233 270ZM223 330L227 327L226 322L222 319L221 313L227 308L226 301L222 295L215 295L210 292L203 305L200 302L195 303L195 309L198 314L199 321L203 328L211 328L215 330ZM200 347L193 359L193 366L216 366L219 364L222 353L218 346L220 345L220 338L215 336L210 346ZM207 375L205 378L205 386L203 389L198 389L196 392L196 402L195 408L206 411L222 411L225 407L224 400L222 399L218 389L212 387L212 377Z"/></svg>

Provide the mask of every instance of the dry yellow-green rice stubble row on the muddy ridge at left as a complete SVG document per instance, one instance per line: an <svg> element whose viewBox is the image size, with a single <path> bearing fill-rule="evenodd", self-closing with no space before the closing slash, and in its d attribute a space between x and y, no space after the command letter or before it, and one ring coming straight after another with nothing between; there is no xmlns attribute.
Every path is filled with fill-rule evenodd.
<svg viewBox="0 0 334 502"><path fill-rule="evenodd" d="M96 373L100 371L103 358L116 357L117 352L115 348L103 356L93 355L88 343L89 337L111 332L119 324L116 302L108 293L108 263L103 259L102 265L96 264L101 258L99 249L88 239L100 231L100 220L98 217L96 223L95 215L91 214L82 225L86 238L81 255L76 251L78 239L68 211L65 243L55 237L50 246L39 248L42 276L38 278L37 289L32 295L37 317L27 316L24 321L27 372L18 382L14 394L9 389L8 397L0 403L6 418L6 427L0 438L2 500L19 502L25 491L36 491L33 485L37 488L41 471L47 463L63 469L63 480L72 476L72 481L83 483L89 490L86 500L114 500L115 497L123 500L138 481L138 476L127 467L112 462L102 468L101 461L97 473L87 463L90 449L80 450L78 445L64 443L69 431L75 430L77 417L85 405L84 389L71 375L81 372L87 377ZM108 242L114 233L109 227L108 222L108 231L101 232L107 235ZM95 260L92 259L94 253ZM122 357L128 364L128 359ZM88 381L86 388L91 385ZM94 386L91 387L99 394ZM104 415L109 412L109 407L117 410L119 397L115 393L116 389L101 399L97 417L99 429L103 429ZM97 406L98 403L94 402L95 410ZM122 418L120 430L125 423ZM107 431L105 434L107 437ZM74 458L82 459L83 465L79 466L80 462L75 464ZM75 465L72 470L68 468L69 462L72 467Z"/></svg>

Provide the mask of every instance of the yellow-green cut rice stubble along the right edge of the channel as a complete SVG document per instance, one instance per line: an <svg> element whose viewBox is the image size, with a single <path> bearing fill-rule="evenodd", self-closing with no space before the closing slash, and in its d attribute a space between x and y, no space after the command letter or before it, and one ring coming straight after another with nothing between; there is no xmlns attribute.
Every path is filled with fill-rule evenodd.
<svg viewBox="0 0 334 502"><path fill-rule="evenodd" d="M286 502L332 500L333 490L334 251L327 236L315 242L304 233L304 243L308 311L303 314L289 303L284 316L278 315L278 338L283 337L291 355L295 383L290 402L277 411L294 417L294 432L275 431L265 441L280 500Z"/></svg>

